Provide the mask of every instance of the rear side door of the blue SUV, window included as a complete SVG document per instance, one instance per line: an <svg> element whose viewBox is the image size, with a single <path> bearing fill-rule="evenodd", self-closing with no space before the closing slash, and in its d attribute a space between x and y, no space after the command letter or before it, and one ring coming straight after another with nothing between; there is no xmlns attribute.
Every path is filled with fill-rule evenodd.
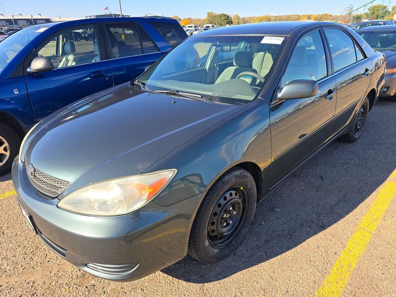
<svg viewBox="0 0 396 297"><path fill-rule="evenodd" d="M114 86L136 78L164 54L136 22L105 23L102 28Z"/></svg>

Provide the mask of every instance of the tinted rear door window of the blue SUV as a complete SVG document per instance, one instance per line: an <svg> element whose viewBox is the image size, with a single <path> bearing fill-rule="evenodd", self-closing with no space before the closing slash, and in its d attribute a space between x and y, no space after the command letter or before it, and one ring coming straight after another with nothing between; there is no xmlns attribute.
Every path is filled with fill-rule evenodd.
<svg viewBox="0 0 396 297"><path fill-rule="evenodd" d="M106 24L113 58L122 58L158 51L154 43L136 23Z"/></svg>

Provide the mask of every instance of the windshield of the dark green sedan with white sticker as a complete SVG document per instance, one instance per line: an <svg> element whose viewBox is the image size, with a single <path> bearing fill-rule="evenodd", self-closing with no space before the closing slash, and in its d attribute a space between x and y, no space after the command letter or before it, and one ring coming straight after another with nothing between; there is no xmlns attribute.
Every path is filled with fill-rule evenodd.
<svg viewBox="0 0 396 297"><path fill-rule="evenodd" d="M284 39L197 35L175 47L138 82L151 91L173 90L199 95L203 101L246 104L268 79Z"/></svg>

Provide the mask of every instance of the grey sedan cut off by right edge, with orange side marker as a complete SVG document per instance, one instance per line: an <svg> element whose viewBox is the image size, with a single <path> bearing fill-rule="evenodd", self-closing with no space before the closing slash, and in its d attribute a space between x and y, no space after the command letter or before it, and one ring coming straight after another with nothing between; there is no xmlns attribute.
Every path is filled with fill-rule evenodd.
<svg viewBox="0 0 396 297"><path fill-rule="evenodd" d="M366 27L357 33L366 40L371 48L385 54L385 86L380 96L390 101L396 101L396 25Z"/></svg>

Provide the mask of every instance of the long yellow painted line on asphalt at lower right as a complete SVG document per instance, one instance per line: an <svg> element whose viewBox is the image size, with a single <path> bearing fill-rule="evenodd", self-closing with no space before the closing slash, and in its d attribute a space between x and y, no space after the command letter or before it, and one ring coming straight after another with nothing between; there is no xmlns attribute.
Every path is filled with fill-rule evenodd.
<svg viewBox="0 0 396 297"><path fill-rule="evenodd" d="M392 172L390 178L396 178L396 170ZM340 257L335 261L322 286L316 291L315 297L338 297L341 295L350 274L364 253L395 193L396 182L385 183L341 252Z"/></svg>

